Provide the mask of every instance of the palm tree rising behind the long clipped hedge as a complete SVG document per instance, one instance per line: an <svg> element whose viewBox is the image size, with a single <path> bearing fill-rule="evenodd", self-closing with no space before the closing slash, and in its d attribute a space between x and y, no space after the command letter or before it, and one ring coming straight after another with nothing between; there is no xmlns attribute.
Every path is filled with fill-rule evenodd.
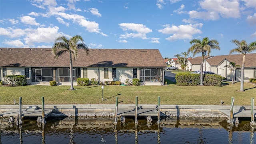
<svg viewBox="0 0 256 144"><path fill-rule="evenodd" d="M200 85L203 85L204 54L207 53L207 56L209 56L212 49L220 50L219 42L217 40L209 40L208 37L205 37L202 41L199 39L193 39L190 41L190 44L193 45L188 49L188 53L192 52L193 57L196 54L202 54Z"/></svg>

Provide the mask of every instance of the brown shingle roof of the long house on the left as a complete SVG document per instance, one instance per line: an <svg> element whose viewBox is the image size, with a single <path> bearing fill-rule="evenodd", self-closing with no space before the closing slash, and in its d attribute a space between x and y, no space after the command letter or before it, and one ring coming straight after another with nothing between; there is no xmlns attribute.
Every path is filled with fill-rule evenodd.
<svg viewBox="0 0 256 144"><path fill-rule="evenodd" d="M55 59L52 48L0 48L0 66L68 67L69 53ZM166 67L157 49L90 49L78 51L74 67Z"/></svg>

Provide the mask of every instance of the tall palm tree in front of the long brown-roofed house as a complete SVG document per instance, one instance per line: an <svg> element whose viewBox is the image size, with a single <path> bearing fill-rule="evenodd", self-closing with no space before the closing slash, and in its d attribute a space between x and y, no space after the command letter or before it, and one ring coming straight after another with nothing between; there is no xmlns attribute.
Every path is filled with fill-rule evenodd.
<svg viewBox="0 0 256 144"><path fill-rule="evenodd" d="M81 42L81 43L78 43L78 42ZM69 54L70 54L70 65L69 65L70 90L74 90L73 79L72 79L73 78L72 56L73 56L73 59L76 60L77 54L78 54L78 49L84 49L84 50L86 50L86 54L89 53L88 46L86 46L86 44L84 44L84 39L82 38L82 36L79 36L79 35L73 36L69 40L65 36L59 36L58 38L56 38L56 40L52 46L52 54L54 54L55 58L58 58L64 52L69 52Z"/></svg>

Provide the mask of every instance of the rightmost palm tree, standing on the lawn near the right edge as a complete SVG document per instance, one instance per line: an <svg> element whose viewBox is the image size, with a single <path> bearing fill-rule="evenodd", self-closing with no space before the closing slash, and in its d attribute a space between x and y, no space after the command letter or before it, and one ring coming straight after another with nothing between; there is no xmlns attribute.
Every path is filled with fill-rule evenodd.
<svg viewBox="0 0 256 144"><path fill-rule="evenodd" d="M245 40L239 41L239 40L231 40L237 48L234 48L230 50L229 55L231 55L234 52L240 53L243 55L243 61L241 66L241 86L240 91L244 91L244 61L245 61L245 55L246 53L253 52L256 50L256 41L251 42L250 44L247 44Z"/></svg>

